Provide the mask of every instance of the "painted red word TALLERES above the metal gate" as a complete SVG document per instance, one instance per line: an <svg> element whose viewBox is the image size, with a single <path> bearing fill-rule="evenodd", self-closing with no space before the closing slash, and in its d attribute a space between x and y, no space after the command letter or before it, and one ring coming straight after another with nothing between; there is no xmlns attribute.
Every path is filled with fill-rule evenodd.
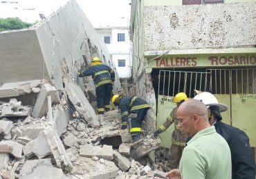
<svg viewBox="0 0 256 179"><path fill-rule="evenodd" d="M169 57L156 59L156 67L194 67L196 66L196 57Z"/></svg>

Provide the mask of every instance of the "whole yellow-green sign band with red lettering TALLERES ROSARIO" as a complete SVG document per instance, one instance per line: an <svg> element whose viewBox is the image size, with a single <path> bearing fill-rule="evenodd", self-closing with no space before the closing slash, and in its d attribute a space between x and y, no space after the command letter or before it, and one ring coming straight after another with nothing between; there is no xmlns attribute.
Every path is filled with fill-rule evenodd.
<svg viewBox="0 0 256 179"><path fill-rule="evenodd" d="M152 67L208 67L256 65L256 54L162 56L149 61Z"/></svg>

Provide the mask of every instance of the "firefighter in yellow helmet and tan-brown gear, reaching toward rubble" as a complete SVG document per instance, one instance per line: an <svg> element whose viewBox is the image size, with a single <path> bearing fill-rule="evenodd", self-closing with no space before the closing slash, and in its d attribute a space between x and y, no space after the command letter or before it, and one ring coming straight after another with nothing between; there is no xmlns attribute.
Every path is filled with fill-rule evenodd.
<svg viewBox="0 0 256 179"><path fill-rule="evenodd" d="M172 145L169 149L169 158L168 158L168 167L170 169L177 169L179 166L179 162L181 160L181 154L185 147L185 136L183 136L181 129L178 127L179 121L177 120L176 112L184 101L188 100L188 96L180 92L174 96L173 101L176 103L176 107L172 109L171 114L169 114L165 120L165 123L163 123L158 130L154 132L154 136L158 136L158 134L161 134L163 131L168 129L172 123L174 123L174 131L172 132Z"/></svg>

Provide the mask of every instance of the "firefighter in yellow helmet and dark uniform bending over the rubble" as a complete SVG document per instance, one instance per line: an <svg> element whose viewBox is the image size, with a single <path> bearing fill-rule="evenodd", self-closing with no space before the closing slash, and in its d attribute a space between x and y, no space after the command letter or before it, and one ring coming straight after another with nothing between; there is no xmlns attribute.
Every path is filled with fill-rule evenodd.
<svg viewBox="0 0 256 179"><path fill-rule="evenodd" d="M131 134L131 138L133 143L137 140L140 140L141 134L141 123L143 122L147 110L150 106L147 104L145 100L142 98L138 98L137 96L122 96L122 95L114 95L112 97L113 105L119 107L120 113L122 116L122 129L127 129L128 125L128 116L129 114L136 114L134 118L131 118L129 123L129 130Z"/></svg>

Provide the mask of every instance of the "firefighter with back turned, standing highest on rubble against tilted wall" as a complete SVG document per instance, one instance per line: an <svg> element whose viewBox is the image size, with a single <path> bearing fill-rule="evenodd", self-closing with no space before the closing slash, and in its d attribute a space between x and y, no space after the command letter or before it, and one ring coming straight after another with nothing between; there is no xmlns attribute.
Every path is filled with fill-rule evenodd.
<svg viewBox="0 0 256 179"><path fill-rule="evenodd" d="M111 92L115 81L115 72L108 65L102 64L98 57L91 61L91 67L78 72L79 77L92 76L96 87L98 114L104 114L110 110Z"/></svg>

